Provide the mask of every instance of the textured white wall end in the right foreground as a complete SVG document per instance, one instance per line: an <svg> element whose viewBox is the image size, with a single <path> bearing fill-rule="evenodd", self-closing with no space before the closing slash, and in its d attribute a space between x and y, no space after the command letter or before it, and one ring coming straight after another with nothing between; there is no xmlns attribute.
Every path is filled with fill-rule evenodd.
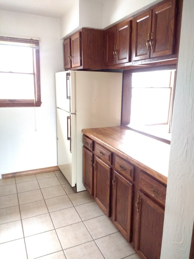
<svg viewBox="0 0 194 259"><path fill-rule="evenodd" d="M188 259L194 220L194 1L184 0L161 259Z"/></svg>

